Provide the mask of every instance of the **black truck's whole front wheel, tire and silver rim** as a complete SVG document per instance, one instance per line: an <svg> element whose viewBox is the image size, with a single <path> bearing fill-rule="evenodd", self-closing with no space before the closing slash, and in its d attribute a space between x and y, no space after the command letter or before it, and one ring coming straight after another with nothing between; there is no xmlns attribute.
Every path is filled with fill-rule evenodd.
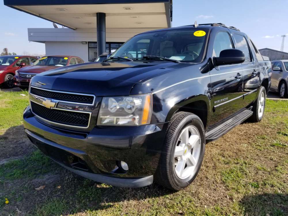
<svg viewBox="0 0 288 216"><path fill-rule="evenodd" d="M155 181L179 191L196 178L205 152L205 129L197 115L178 112L173 115L162 148Z"/></svg>

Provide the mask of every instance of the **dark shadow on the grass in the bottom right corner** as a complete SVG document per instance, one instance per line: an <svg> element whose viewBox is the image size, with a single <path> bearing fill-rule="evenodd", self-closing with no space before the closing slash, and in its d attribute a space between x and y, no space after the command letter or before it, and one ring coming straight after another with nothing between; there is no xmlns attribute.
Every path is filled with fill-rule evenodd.
<svg viewBox="0 0 288 216"><path fill-rule="evenodd" d="M240 203L244 215L288 215L288 194L256 194L245 196Z"/></svg>

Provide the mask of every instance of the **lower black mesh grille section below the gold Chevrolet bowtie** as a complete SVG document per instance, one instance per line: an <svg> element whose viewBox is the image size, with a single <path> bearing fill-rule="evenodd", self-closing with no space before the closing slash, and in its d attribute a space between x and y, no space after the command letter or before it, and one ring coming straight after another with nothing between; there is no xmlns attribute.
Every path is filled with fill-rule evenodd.
<svg viewBox="0 0 288 216"><path fill-rule="evenodd" d="M90 113L49 109L31 101L32 112L48 121L68 126L88 127Z"/></svg>

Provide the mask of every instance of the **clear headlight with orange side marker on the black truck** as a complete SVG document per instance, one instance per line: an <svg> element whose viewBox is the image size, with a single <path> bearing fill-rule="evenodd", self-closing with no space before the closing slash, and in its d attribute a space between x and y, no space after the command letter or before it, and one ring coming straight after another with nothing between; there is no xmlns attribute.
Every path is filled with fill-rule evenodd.
<svg viewBox="0 0 288 216"><path fill-rule="evenodd" d="M152 95L103 97L97 125L150 124Z"/></svg>

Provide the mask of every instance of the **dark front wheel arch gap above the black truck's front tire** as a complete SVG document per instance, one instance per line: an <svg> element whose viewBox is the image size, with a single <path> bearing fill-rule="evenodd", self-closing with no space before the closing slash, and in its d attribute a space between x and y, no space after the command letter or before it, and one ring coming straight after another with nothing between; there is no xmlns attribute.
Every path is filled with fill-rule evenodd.
<svg viewBox="0 0 288 216"><path fill-rule="evenodd" d="M207 123L210 119L210 100L206 95L198 95L192 98L185 98L179 103L176 103L171 107L166 121L170 121L172 116L180 111L189 112L197 115L203 122L204 128L206 128Z"/></svg>

